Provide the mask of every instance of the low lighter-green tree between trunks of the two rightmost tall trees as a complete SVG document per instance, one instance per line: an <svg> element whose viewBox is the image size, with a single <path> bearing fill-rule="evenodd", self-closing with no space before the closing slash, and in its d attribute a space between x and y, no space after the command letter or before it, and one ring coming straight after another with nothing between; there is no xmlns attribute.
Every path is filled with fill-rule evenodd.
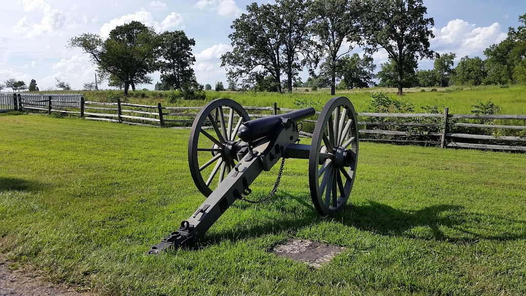
<svg viewBox="0 0 526 296"><path fill-rule="evenodd" d="M376 65L373 62L372 57L363 55L363 58L360 58L360 55L355 53L350 55L345 55L340 58L336 66L336 76L342 78L345 87L352 89L353 87L369 87L373 85L373 78L375 74Z"/></svg>

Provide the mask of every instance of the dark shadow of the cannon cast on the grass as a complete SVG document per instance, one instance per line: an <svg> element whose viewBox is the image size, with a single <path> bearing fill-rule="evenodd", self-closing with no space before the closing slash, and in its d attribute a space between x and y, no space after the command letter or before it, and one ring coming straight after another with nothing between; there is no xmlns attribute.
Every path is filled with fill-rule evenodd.
<svg viewBox="0 0 526 296"><path fill-rule="evenodd" d="M508 241L525 239L524 229L526 221L510 219L507 216L485 215L467 211L463 206L451 204L431 205L417 211L402 211L389 205L375 201L368 201L363 205L348 204L343 211L334 216L321 217L310 200L306 201L287 193L276 194L279 199L295 199L301 206L301 216L290 218L291 215L278 216L276 219L261 219L254 226L241 230L229 229L223 232L209 233L199 240L201 247L213 245L223 240L236 242L247 238L258 238L268 234L287 232L294 236L299 230L309 225L316 225L333 221L342 225L386 236L400 236L406 238L448 241L451 243L473 243L480 239ZM276 201L275 201L276 203ZM239 205L240 209L251 205ZM494 224L488 224L492 221ZM517 231L510 232L508 225L522 224ZM500 227L505 231L492 231ZM418 232L424 232L420 235ZM445 232L444 232L445 231ZM415 234L415 232L417 234ZM487 234L498 233L498 234Z"/></svg>

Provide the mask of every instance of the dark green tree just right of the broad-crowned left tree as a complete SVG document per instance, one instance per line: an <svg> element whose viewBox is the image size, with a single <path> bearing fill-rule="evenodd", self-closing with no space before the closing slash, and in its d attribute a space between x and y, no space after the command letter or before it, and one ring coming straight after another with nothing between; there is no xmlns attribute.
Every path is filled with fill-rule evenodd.
<svg viewBox="0 0 526 296"><path fill-rule="evenodd" d="M184 31L164 32L159 35L160 60L157 62L161 81L174 90L195 81L191 65L196 61L191 46L196 42L188 38Z"/></svg>

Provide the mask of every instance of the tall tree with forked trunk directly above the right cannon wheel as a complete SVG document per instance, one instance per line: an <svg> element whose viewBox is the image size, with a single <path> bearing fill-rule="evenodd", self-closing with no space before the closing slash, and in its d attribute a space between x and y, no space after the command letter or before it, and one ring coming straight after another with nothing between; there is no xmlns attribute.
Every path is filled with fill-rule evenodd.
<svg viewBox="0 0 526 296"><path fill-rule="evenodd" d="M325 55L331 95L336 93L338 59L361 42L362 9L360 7L359 2L353 0L316 0L311 5L311 13L315 17L309 31L318 38L319 48ZM340 48L346 41L349 42L350 47L341 53Z"/></svg>

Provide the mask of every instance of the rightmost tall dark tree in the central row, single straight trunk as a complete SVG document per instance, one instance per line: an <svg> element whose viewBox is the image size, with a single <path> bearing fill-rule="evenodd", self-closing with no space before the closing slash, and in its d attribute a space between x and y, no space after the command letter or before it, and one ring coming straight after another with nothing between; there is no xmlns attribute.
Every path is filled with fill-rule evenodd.
<svg viewBox="0 0 526 296"><path fill-rule="evenodd" d="M429 39L434 38L429 28L433 18L425 18L427 8L422 0L365 0L368 4L366 38L369 53L383 48L396 65L398 95L402 95L406 63L432 58ZM412 67L410 67L412 68Z"/></svg>

